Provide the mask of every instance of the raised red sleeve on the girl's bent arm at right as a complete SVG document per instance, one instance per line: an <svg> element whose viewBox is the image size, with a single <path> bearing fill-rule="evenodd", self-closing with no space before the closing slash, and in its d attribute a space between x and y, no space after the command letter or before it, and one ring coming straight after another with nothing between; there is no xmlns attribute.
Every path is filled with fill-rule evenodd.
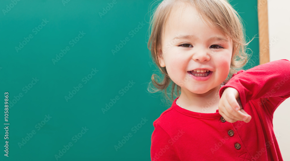
<svg viewBox="0 0 290 161"><path fill-rule="evenodd" d="M273 116L276 108L290 97L290 61L281 59L240 70L220 89L220 97L226 87L237 89L242 107L255 100Z"/></svg>

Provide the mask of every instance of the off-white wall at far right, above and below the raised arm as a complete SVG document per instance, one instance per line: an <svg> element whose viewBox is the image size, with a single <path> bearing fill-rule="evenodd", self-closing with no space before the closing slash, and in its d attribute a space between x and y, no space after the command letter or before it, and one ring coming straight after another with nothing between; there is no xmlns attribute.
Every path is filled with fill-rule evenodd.
<svg viewBox="0 0 290 161"><path fill-rule="evenodd" d="M290 1L268 0L270 61L290 60ZM276 42L275 42L276 41ZM290 70L290 69L277 69ZM275 111L273 127L283 160L290 160L290 98Z"/></svg>

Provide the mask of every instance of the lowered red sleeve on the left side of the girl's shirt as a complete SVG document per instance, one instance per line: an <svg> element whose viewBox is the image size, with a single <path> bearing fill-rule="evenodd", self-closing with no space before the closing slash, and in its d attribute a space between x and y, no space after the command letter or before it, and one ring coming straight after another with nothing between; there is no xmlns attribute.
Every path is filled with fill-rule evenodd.
<svg viewBox="0 0 290 161"><path fill-rule="evenodd" d="M155 129L151 137L151 161L179 161L173 141L161 126L153 123Z"/></svg>

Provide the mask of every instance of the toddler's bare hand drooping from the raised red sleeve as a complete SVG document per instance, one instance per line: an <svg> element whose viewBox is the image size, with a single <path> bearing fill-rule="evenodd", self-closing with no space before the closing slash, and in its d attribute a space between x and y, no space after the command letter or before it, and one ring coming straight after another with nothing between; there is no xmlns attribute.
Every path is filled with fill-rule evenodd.
<svg viewBox="0 0 290 161"><path fill-rule="evenodd" d="M227 87L222 93L218 105L220 115L230 123L236 121L244 121L248 123L252 117L242 108L239 92L232 87Z"/></svg>

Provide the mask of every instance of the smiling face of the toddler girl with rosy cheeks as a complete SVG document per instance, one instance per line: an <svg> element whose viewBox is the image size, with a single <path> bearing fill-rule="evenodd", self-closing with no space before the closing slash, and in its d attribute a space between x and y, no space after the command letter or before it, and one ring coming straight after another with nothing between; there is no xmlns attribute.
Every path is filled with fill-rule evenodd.
<svg viewBox="0 0 290 161"><path fill-rule="evenodd" d="M203 23L195 8L179 8L171 14L163 33L159 63L182 90L202 94L226 79L232 40Z"/></svg>

